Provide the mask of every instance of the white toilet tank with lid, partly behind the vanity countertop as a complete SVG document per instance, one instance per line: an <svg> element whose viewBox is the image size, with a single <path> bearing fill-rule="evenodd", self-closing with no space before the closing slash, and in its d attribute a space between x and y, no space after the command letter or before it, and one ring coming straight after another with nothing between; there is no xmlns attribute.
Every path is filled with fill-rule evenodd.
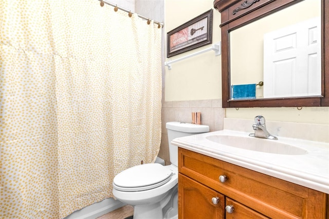
<svg viewBox="0 0 329 219"><path fill-rule="evenodd" d="M171 144L171 141L179 137L209 132L208 125L198 125L185 122L167 122L166 128L168 132L170 162L176 167L178 167L178 147Z"/></svg>

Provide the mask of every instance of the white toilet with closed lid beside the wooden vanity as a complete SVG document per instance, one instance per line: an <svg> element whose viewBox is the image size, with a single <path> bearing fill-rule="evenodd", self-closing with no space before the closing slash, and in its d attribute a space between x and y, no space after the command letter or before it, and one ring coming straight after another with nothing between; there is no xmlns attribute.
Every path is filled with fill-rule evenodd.
<svg viewBox="0 0 329 219"><path fill-rule="evenodd" d="M122 171L114 177L113 194L134 206L134 219L174 219L178 214L178 148L174 138L209 132L209 126L167 122L171 165L147 163Z"/></svg>

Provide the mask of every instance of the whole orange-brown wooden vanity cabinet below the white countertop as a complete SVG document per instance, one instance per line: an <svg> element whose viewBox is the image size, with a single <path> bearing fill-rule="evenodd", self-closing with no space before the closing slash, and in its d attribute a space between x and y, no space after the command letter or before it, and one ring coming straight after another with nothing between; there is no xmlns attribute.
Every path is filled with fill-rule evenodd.
<svg viewBox="0 0 329 219"><path fill-rule="evenodd" d="M178 171L179 219L328 218L325 193L222 160L178 148Z"/></svg>

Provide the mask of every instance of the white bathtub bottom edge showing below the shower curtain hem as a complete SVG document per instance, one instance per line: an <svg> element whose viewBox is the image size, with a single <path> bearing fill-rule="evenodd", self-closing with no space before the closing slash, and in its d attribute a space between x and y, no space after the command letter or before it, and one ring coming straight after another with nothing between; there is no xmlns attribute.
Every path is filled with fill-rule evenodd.
<svg viewBox="0 0 329 219"><path fill-rule="evenodd" d="M96 219L108 212L121 208L125 204L114 198L106 198L101 202L89 205L81 210L75 211L64 219Z"/></svg>

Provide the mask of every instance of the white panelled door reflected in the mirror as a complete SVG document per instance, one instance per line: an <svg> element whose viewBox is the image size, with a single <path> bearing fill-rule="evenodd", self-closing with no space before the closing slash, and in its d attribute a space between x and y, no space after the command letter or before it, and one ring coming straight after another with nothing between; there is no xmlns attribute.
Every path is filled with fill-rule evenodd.
<svg viewBox="0 0 329 219"><path fill-rule="evenodd" d="M321 95L321 20L264 34L264 98Z"/></svg>

